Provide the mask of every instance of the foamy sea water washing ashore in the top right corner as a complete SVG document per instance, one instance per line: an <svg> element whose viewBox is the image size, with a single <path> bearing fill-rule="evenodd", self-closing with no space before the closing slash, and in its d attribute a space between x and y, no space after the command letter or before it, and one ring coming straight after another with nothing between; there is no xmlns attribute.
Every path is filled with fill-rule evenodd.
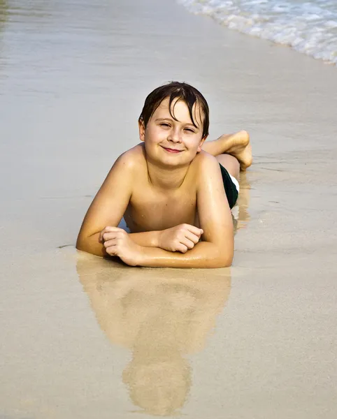
<svg viewBox="0 0 337 419"><path fill-rule="evenodd" d="M178 0L230 29L289 45L337 65L335 0Z"/></svg>

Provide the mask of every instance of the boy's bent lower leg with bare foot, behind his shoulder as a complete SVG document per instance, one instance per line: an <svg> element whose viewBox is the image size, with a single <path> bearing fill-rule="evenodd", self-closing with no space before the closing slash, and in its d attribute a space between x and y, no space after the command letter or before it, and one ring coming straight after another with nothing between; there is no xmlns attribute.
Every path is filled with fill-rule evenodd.
<svg viewBox="0 0 337 419"><path fill-rule="evenodd" d="M235 157L238 163L240 163L241 170L246 170L252 164L252 147L247 131L225 134L217 138L217 140L204 142L203 150L213 156L230 155ZM221 161L219 162L222 164ZM224 164L222 166L226 167ZM231 173L230 170L228 171ZM232 173L231 175L234 176Z"/></svg>

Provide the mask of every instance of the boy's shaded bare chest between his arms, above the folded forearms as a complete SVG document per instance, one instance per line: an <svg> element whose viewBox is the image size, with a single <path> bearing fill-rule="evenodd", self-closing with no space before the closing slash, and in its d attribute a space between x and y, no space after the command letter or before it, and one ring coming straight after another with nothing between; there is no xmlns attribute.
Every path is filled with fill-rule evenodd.
<svg viewBox="0 0 337 419"><path fill-rule="evenodd" d="M164 193L148 186L133 193L124 219L133 233L164 230L182 223L194 224L196 191L185 187L174 193Z"/></svg>

